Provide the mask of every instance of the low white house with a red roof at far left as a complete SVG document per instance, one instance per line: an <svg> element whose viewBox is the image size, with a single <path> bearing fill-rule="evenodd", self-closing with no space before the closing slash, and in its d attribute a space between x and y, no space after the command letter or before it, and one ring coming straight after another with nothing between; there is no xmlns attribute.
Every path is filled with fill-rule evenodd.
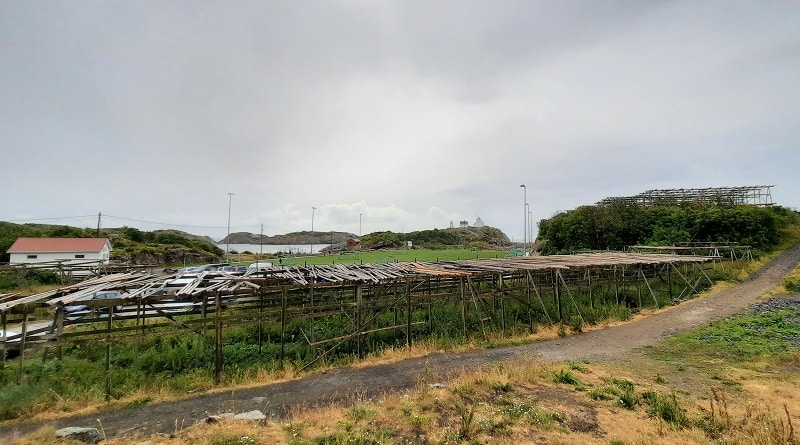
<svg viewBox="0 0 800 445"><path fill-rule="evenodd" d="M19 238L6 251L9 264L62 262L66 264L108 263L108 238Z"/></svg>

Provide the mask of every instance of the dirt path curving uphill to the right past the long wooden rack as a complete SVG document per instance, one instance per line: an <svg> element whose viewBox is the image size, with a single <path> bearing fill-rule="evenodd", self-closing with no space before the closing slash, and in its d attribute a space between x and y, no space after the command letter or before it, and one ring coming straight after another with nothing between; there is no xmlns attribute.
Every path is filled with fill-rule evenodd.
<svg viewBox="0 0 800 445"><path fill-rule="evenodd" d="M51 422L65 426L102 427L108 436L171 434L211 414L261 410L280 417L287 410L332 402L349 403L389 391L413 388L420 376L444 380L464 368L504 359L539 356L547 361L604 361L652 345L674 333L728 317L781 284L800 263L800 245L765 265L755 276L735 287L687 301L630 323L540 343L482 350L466 354L432 354L423 358L360 368L341 368L295 380L205 394L186 400L118 410ZM99 422L99 423L98 423ZM0 439L43 426L28 423L0 427Z"/></svg>

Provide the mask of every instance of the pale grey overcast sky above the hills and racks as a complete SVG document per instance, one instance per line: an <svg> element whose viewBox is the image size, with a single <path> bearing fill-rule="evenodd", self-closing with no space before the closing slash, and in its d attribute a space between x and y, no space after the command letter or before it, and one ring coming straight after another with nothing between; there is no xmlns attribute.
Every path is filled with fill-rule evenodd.
<svg viewBox="0 0 800 445"><path fill-rule="evenodd" d="M267 235L480 217L521 241L525 197L534 221L663 188L800 207L797 1L0 10L4 221L220 239L229 208Z"/></svg>

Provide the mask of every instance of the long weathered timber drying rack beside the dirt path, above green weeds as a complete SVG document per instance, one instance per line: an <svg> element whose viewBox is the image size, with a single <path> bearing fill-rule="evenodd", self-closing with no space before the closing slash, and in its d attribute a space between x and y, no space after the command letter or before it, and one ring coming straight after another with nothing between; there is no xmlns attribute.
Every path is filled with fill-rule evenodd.
<svg viewBox="0 0 800 445"><path fill-rule="evenodd" d="M265 345L279 347L281 364L289 359L288 344L304 345L311 355L304 355L300 365L309 367L345 346L362 356L374 349L367 342L378 336L410 345L415 337L434 332L460 332L466 338L508 335L514 329L514 335L555 322L582 325L582 311L598 304L642 307L651 301L658 307L710 283L704 265L712 259L604 252L294 267L248 277L201 274L180 289L167 286L174 276L114 274L30 297L2 296L0 366L7 350L19 351L22 378L26 350L45 348L45 360L50 347L60 357L66 344L104 344L110 393L112 343L141 344L149 337L176 334L197 334L205 342L210 334L219 379L225 331L248 327L260 353ZM125 291L125 298L81 301L110 289ZM65 309L77 301L87 306L85 313L67 314ZM52 320L32 326L28 317L37 307L52 308ZM458 326L436 316L447 308L457 309ZM8 331L9 318L21 323L21 332ZM340 327L338 332L320 329L321 323Z"/></svg>

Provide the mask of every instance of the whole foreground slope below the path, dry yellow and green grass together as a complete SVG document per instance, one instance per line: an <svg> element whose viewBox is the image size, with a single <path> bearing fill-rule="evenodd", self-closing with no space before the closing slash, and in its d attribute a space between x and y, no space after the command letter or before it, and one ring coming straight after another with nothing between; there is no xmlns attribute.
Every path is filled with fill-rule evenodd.
<svg viewBox="0 0 800 445"><path fill-rule="evenodd" d="M796 311L738 316L612 363L526 360L490 365L446 382L423 374L408 394L298 411L285 422L201 424L168 441L155 440L192 445L796 444L798 317ZM727 341L745 334L742 341ZM44 429L15 443L64 442ZM107 443L138 444L142 438Z"/></svg>

